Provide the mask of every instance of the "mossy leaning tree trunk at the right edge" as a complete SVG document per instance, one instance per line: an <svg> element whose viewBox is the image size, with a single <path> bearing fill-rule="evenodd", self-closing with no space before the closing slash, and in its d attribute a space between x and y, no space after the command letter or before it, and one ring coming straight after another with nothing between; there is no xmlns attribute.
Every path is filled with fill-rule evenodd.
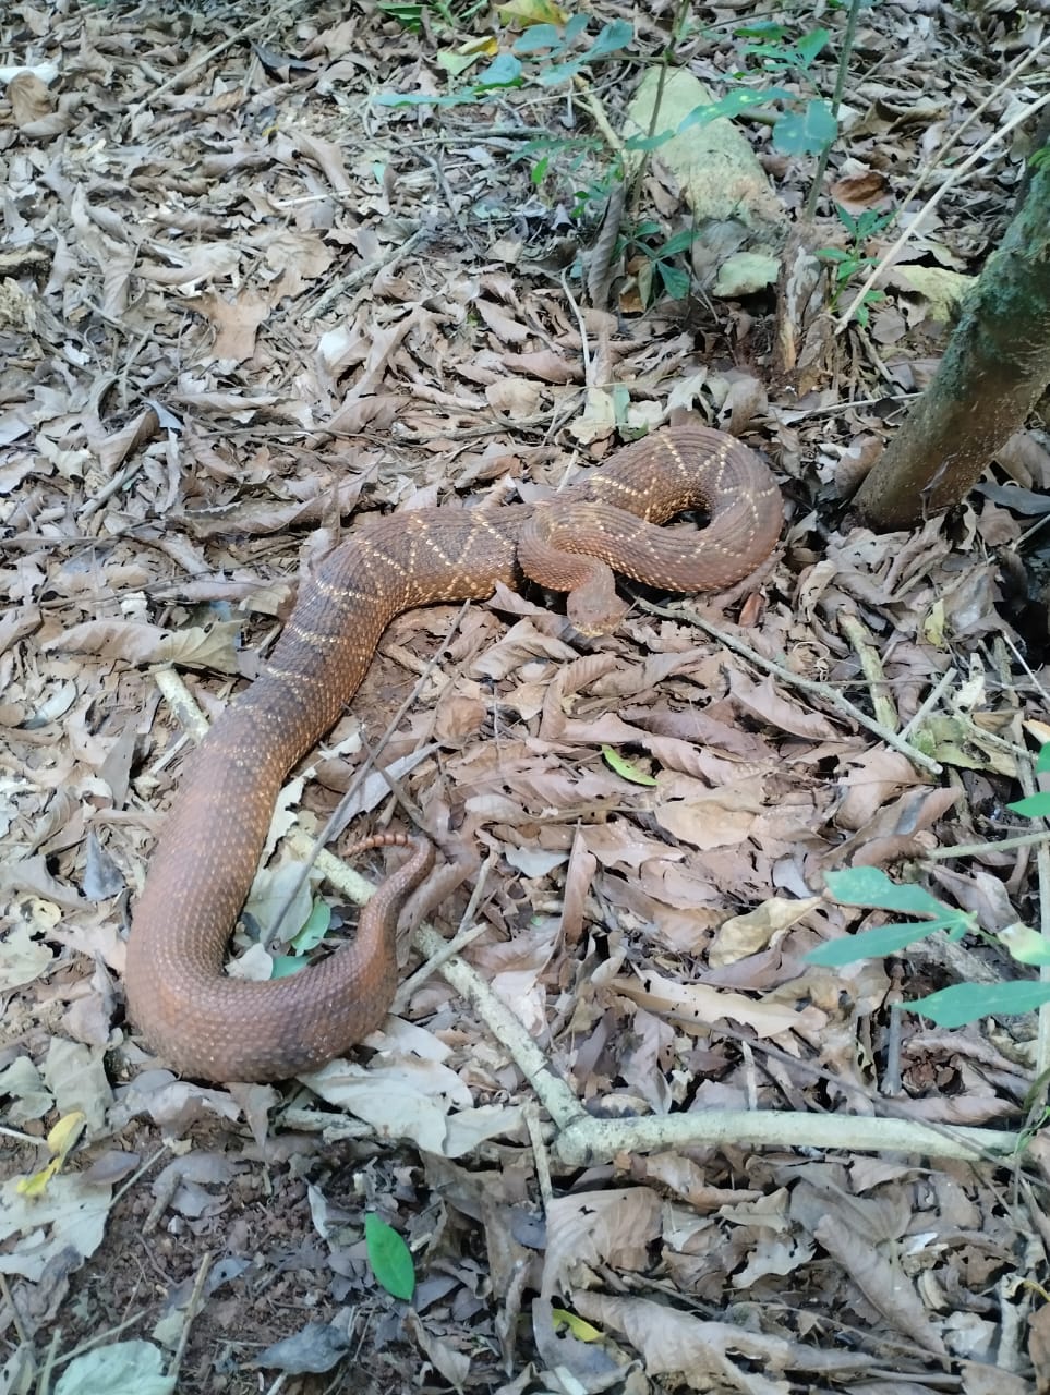
<svg viewBox="0 0 1050 1395"><path fill-rule="evenodd" d="M1050 145L1046 146L1050 149ZM1050 160L962 306L933 382L856 497L877 529L958 504L1050 384Z"/></svg>

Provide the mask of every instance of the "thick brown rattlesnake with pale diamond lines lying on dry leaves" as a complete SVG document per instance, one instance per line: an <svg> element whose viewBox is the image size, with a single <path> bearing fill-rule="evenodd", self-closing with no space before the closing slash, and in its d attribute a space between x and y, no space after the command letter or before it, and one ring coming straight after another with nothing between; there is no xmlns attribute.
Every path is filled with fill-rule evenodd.
<svg viewBox="0 0 1050 1395"><path fill-rule="evenodd" d="M697 506L709 513L700 536L658 526ZM355 940L320 964L265 983L222 965L281 783L357 691L395 615L529 576L567 590L572 624L602 633L624 611L610 568L666 590L718 590L769 555L782 522L779 491L747 446L684 425L542 504L420 509L356 530L302 586L271 661L187 763L127 946L130 1016L158 1055L207 1080L282 1080L383 1021L397 918L430 869L427 843L380 886Z"/></svg>

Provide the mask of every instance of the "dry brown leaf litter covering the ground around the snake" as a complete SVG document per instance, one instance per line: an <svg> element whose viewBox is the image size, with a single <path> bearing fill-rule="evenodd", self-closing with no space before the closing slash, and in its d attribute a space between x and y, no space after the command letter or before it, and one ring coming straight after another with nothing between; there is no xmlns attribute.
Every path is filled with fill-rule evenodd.
<svg viewBox="0 0 1050 1395"><path fill-rule="evenodd" d="M739 21L723 10L705 20ZM976 21L1003 68L1046 39L1026 14ZM617 18L598 6L591 38ZM655 57L670 11L633 20ZM889 1011L1010 976L1005 956L931 940L804 960L881 923L822 896L843 866L910 869L993 932L1037 922L1025 847L951 868L930 854L1016 829L1021 721L1047 706L1044 625L1023 580L1018 596L1046 441L1022 434L1003 477L910 536L852 526L838 498L940 353L952 289L926 273L979 269L1019 163L993 151L942 199L870 340L806 331L796 393L753 299L644 310L628 261L614 314L561 279L600 213L575 213L575 190L609 156L574 145L560 169L554 151L539 184L521 156L552 133L570 151L596 112L627 133L631 70L595 64L577 100L526 84L371 105L444 89L436 56L454 45L433 24L77 0L14 0L0 20L0 1389L42 1371L64 1395L169 1389L177 1371L179 1389L236 1392L283 1371L309 1391L332 1370L362 1391L1046 1388L1039 1138L1021 1170L880 1152L877 1133L808 1158L803 1131L572 1166L557 1138L641 1120L659 1140L720 1110L1025 1123L1030 1021L942 1031ZM715 22L683 53L718 92L741 42ZM859 46L877 75L848 91L832 159L855 212L963 116L980 144L1010 100L977 106L994 84L944 7L866 10ZM832 64L825 50L822 91ZM807 165L739 131L776 188L748 165L757 206L783 222ZM645 169L641 206L670 236L688 223L669 169ZM704 183L690 176L694 206L719 193ZM702 287L746 255L723 233L693 244ZM821 233L842 244L838 220ZM775 568L727 597L637 597L593 642L535 594L404 617L310 759L316 783L283 801L314 834L411 698L377 752L399 798L371 776L353 836L419 816L486 859L473 904L468 883L438 917L445 935L468 922L478 983L413 981L401 1016L309 1088L175 1080L119 988L187 749L149 665L187 671L214 717L355 511L532 499L600 462L613 427L667 410L765 445L790 501ZM927 764L829 692L915 723ZM49 1130L78 1115L84 1140L49 1172ZM415 1267L411 1313L369 1261L384 1223Z"/></svg>

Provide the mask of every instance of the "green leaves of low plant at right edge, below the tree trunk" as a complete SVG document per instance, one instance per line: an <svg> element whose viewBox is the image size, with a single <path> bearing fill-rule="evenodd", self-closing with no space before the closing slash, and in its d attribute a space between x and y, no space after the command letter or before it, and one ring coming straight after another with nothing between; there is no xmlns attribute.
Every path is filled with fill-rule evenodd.
<svg viewBox="0 0 1050 1395"><path fill-rule="evenodd" d="M1036 770L1050 770L1050 744L1044 745L1036 759ZM1014 813L1028 819L1050 816L1050 791L1030 795L1007 805ZM880 925L873 930L862 930L842 939L828 940L810 950L806 956L810 964L838 968L862 958L877 958L898 954L909 944L944 932L949 940L963 935L979 935L990 944L1005 949L1018 964L1050 964L1050 940L1028 925L1011 925L998 935L990 935L977 925L972 911L959 911L938 901L915 883L892 882L880 868L846 868L842 872L827 873L828 891L842 905L857 905L875 911L894 911L905 915L926 917L915 921ZM926 997L901 1004L905 1010L919 1013L937 1023L938 1027L963 1027L979 1017L1011 1017L1030 1013L1043 1003L1050 1003L1050 982L1023 979L1005 983L955 983Z"/></svg>

